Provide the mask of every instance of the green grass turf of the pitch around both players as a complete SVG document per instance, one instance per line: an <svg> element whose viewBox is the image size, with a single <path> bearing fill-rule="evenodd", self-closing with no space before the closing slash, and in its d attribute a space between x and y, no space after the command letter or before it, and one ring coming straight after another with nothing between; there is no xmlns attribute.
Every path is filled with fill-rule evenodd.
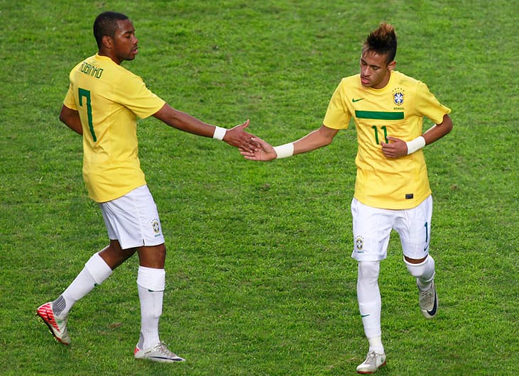
<svg viewBox="0 0 519 376"><path fill-rule="evenodd" d="M366 34L393 23L397 69L452 108L454 130L425 149L439 314L422 318L393 236L379 374L519 373L514 1L0 0L0 374L352 375L366 355L350 258L353 127L328 148L261 164L139 123L168 247L160 333L186 363L133 360L136 259L72 309L70 347L35 319L106 245L80 137L58 121L104 10L133 20L140 52L124 66L153 92L219 126L250 118L273 144L320 126Z"/></svg>

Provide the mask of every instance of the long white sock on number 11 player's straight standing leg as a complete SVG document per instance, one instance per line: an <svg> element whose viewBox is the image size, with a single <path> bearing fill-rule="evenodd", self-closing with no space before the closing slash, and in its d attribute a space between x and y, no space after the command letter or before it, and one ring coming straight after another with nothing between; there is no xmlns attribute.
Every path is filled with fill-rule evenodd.
<svg viewBox="0 0 519 376"><path fill-rule="evenodd" d="M378 289L379 261L359 261L357 299L362 317L364 333L369 341L369 350L383 353L381 341L381 292Z"/></svg>

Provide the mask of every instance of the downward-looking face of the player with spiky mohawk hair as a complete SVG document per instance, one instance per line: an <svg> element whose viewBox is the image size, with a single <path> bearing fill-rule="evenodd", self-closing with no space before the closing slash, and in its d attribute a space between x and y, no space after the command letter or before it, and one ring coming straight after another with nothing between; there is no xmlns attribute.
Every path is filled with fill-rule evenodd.
<svg viewBox="0 0 519 376"><path fill-rule="evenodd" d="M389 82L391 71L396 62L386 62L387 55L378 55L373 51L363 51L361 55L361 84L364 87L382 89Z"/></svg>

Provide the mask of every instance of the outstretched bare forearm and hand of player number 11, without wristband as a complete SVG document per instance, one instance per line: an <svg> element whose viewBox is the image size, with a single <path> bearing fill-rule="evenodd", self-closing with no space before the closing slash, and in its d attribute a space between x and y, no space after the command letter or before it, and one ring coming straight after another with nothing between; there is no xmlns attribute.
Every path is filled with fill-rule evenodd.
<svg viewBox="0 0 519 376"><path fill-rule="evenodd" d="M332 143L335 135L339 130L328 128L322 125L321 128L316 129L308 133L305 137L293 143L294 155L300 153L307 153L309 151L322 148L323 146ZM278 157L272 145L261 140L261 138L253 138L258 144L258 148L254 148L252 151L241 150L240 153L248 160L273 160Z"/></svg>

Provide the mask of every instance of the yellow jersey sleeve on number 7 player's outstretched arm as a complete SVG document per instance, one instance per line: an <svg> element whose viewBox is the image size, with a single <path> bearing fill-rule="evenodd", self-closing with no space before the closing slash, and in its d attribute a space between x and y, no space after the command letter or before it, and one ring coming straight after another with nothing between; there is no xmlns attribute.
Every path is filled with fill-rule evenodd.
<svg viewBox="0 0 519 376"><path fill-rule="evenodd" d="M139 118L147 118L164 106L165 101L146 87L141 77L128 74L117 90L120 104L130 109Z"/></svg>

